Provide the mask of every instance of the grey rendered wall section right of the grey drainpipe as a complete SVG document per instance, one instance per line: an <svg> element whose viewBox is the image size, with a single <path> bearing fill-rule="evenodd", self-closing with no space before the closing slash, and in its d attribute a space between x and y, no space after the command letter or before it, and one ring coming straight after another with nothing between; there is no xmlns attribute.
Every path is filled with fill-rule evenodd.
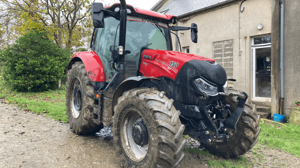
<svg viewBox="0 0 300 168"><path fill-rule="evenodd" d="M284 110L288 116L295 100L300 101L300 3L284 1Z"/></svg>

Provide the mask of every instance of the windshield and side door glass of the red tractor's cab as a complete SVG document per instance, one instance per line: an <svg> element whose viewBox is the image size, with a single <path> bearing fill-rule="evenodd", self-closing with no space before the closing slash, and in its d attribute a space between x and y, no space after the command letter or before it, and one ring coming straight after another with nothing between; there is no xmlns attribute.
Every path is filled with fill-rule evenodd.
<svg viewBox="0 0 300 168"><path fill-rule="evenodd" d="M116 73L113 68L116 66L113 61L113 50L116 51L119 45L118 25L119 21L115 18L104 18L104 28L97 29L94 41L95 52L101 58L105 68L106 82L109 82ZM138 75L137 70L143 50L171 50L170 33L167 27L167 24L161 22L127 16L125 50L131 53L125 55L125 79Z"/></svg>

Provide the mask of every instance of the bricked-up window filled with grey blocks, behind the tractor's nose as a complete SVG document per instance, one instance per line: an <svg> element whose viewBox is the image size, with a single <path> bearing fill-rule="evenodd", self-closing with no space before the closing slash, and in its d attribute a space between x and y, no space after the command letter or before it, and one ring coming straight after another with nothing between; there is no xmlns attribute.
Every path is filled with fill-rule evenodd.
<svg viewBox="0 0 300 168"><path fill-rule="evenodd" d="M226 71L227 78L233 78L233 40L213 42L213 59Z"/></svg>

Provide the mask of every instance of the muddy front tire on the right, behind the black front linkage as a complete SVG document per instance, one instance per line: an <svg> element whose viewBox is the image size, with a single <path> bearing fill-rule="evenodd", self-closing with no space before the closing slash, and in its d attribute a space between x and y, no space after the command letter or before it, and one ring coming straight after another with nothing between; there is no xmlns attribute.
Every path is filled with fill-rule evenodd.
<svg viewBox="0 0 300 168"><path fill-rule="evenodd" d="M236 108L238 104L236 98L238 96L243 97L244 94L233 88L228 88L224 104L231 105L229 109L230 112L233 112ZM245 103L244 111L241 114L240 120L238 120L236 129L237 131L231 140L216 142L211 145L203 145L203 147L211 153L221 155L226 158L238 157L252 149L258 140L260 126L259 115L256 113L256 107L249 101L249 98Z"/></svg>

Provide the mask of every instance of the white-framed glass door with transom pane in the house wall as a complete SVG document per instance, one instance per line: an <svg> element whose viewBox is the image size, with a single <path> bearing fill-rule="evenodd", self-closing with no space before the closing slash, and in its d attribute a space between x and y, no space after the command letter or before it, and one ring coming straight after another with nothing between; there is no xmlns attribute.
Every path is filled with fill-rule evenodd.
<svg viewBox="0 0 300 168"><path fill-rule="evenodd" d="M271 101L271 35L252 38L252 99Z"/></svg>

